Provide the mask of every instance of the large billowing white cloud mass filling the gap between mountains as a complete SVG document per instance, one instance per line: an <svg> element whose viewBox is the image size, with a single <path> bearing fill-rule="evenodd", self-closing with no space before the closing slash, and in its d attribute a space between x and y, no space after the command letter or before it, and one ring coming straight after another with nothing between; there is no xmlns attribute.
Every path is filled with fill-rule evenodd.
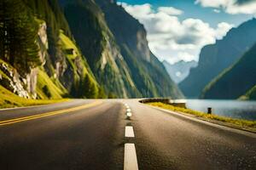
<svg viewBox="0 0 256 170"><path fill-rule="evenodd" d="M154 10L148 3L143 5L122 3L122 6L145 26L152 52L159 59L166 59L171 63L181 59L197 60L203 46L222 38L232 27L223 22L214 29L199 19L179 20L177 12L171 12L172 8Z"/></svg>

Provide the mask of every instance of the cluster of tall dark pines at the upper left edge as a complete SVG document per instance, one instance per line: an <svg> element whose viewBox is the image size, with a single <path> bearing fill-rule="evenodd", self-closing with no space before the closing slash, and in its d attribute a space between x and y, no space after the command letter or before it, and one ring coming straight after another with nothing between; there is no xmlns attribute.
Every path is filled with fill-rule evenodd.
<svg viewBox="0 0 256 170"><path fill-rule="evenodd" d="M41 64L38 56L38 24L20 0L1 0L1 58L26 74Z"/></svg>

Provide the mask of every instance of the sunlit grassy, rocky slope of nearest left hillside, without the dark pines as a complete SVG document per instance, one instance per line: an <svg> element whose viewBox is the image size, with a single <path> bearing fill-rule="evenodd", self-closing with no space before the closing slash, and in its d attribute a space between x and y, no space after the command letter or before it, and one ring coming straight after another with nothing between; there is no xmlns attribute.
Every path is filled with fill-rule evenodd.
<svg viewBox="0 0 256 170"><path fill-rule="evenodd" d="M8 1L4 0L3 4L1 3L0 5L6 7L6 4L9 3L5 4L5 2ZM7 12L1 13L3 14L3 19L4 17L11 17L11 20L14 20L15 16L16 20L22 20L22 15L24 15L22 13L24 12L17 10L16 15L13 15L10 13L13 10L11 7L16 8L16 5L15 2L10 4L12 6L9 5ZM96 82L96 78L90 71L90 66L73 40L72 32L58 1L24 0L23 2L19 1L19 5L22 10L26 11L26 14L32 15L30 21L35 20L38 25L38 30L34 36L37 37L37 53L42 63L34 68L31 66L26 67L28 69L26 73L20 74L20 71L16 71L18 67L12 65L9 60L15 58L15 55L5 54L9 56L9 59L5 59L4 55L0 54L5 64L9 65L10 69L7 71L9 75L15 72L14 77L19 77L20 83L18 84L23 87L22 90L24 92L21 88L20 90L23 94L26 92L22 96L37 99L60 99L67 96L75 98L104 97L102 88ZM17 8L19 7L17 6ZM8 22L3 20L4 23ZM15 28L9 34L18 32L18 29L18 27ZM23 32L20 31L17 36L21 37L22 34ZM10 45L10 47L13 46L14 43ZM0 49L0 51L2 50ZM25 67L20 68L21 72L24 69ZM2 68L2 71L6 70ZM9 77L9 82L15 82L14 77ZM25 82L22 80L25 80ZM12 88L9 88L8 83L3 84L1 82L1 85L4 85L5 88L15 94L20 93L15 91L15 84L12 85Z"/></svg>

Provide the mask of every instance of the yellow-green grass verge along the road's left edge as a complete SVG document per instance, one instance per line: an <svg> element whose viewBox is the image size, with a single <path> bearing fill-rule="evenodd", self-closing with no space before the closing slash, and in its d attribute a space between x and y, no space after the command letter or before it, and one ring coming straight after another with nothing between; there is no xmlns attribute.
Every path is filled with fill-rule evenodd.
<svg viewBox="0 0 256 170"><path fill-rule="evenodd" d="M12 108L21 106L31 106L31 105L47 105L57 102L64 102L68 99L24 99L19 96L12 94L6 88L0 85L0 108Z"/></svg>

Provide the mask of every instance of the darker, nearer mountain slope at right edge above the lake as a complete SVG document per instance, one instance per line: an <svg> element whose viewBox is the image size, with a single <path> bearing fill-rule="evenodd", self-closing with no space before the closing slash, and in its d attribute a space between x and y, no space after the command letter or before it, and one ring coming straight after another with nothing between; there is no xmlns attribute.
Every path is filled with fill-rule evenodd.
<svg viewBox="0 0 256 170"><path fill-rule="evenodd" d="M235 65L223 71L203 90L202 98L238 99L243 94L250 96L256 84L256 44Z"/></svg>

